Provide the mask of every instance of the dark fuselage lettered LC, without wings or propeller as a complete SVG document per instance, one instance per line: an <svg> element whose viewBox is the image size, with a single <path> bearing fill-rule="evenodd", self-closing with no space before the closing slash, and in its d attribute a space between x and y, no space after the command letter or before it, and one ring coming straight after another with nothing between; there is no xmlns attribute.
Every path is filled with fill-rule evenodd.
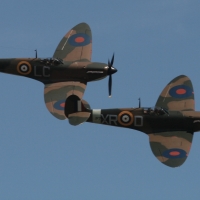
<svg viewBox="0 0 200 200"><path fill-rule="evenodd" d="M107 71L107 64L97 62L40 58L0 59L0 72L32 78L44 84L95 81L105 78Z"/></svg>

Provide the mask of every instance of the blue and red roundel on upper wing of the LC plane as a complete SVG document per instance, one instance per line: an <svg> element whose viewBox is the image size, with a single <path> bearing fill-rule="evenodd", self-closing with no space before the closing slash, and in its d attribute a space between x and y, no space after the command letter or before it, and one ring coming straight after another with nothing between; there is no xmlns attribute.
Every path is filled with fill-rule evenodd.
<svg viewBox="0 0 200 200"><path fill-rule="evenodd" d="M76 33L68 39L68 43L75 47L82 47L90 44L91 38L85 33Z"/></svg>

